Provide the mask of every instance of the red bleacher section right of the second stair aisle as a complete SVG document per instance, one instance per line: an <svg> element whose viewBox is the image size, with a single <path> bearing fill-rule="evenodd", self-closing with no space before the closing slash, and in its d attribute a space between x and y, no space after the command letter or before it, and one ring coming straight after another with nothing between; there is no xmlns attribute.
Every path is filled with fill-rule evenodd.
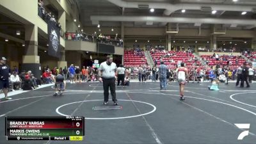
<svg viewBox="0 0 256 144"><path fill-rule="evenodd" d="M227 65L227 61L230 61L229 65L228 65L230 70L233 70L234 68L238 68L239 66L243 65L243 63L246 61L239 56L228 57L227 60L225 60L225 61L221 60L221 59L223 59L223 56L220 56L218 61L216 60L216 58L212 58L212 55L201 55L200 57L209 61L209 63L208 63L209 66L214 66L214 65L217 65L218 63L220 63L220 66L223 67L223 66ZM236 64L236 59L237 59L237 64Z"/></svg>

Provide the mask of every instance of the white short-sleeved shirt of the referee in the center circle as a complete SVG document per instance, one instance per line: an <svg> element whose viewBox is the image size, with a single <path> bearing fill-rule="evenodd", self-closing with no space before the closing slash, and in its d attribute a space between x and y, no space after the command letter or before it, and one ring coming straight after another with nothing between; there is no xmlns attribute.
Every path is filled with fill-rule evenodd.
<svg viewBox="0 0 256 144"><path fill-rule="evenodd" d="M102 77L104 79L111 79L115 77L115 72L116 72L116 64L111 63L111 65L107 64L107 61L100 63L100 68L99 70L102 70Z"/></svg>

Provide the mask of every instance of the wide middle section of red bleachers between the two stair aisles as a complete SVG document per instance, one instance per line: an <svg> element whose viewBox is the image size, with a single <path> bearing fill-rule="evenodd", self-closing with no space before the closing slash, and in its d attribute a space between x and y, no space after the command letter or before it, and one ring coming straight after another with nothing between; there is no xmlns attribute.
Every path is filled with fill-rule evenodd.
<svg viewBox="0 0 256 144"><path fill-rule="evenodd" d="M192 53L175 51L157 51L154 53L150 52L153 61L157 60L157 65L160 65L160 56L164 56L168 53L172 54L173 56L171 55L168 58L162 58L162 61L164 61L164 64L167 65L168 68L176 68L179 61L186 63L186 67L196 67L196 65L201 66L200 61L189 61L189 58L195 58L195 56ZM171 60L173 60L173 62ZM196 63L196 65L193 65L193 63Z"/></svg>

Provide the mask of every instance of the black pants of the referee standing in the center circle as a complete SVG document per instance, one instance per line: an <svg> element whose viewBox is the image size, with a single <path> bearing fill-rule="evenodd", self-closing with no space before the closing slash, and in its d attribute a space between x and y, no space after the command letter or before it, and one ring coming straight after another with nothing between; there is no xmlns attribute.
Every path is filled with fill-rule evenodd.
<svg viewBox="0 0 256 144"><path fill-rule="evenodd" d="M103 81L103 90L104 90L104 102L108 102L109 88L110 88L110 93L112 95L113 102L117 102L115 77L110 79L105 79L102 77L102 81Z"/></svg>

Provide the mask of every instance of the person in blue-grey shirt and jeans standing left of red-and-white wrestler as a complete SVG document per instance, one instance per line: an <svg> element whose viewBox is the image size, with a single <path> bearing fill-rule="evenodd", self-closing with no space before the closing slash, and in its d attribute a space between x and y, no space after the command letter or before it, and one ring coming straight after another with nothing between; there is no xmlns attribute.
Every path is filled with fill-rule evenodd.
<svg viewBox="0 0 256 144"><path fill-rule="evenodd" d="M167 67L164 65L164 62L161 61L161 65L159 66L160 90L166 90L166 72Z"/></svg>

